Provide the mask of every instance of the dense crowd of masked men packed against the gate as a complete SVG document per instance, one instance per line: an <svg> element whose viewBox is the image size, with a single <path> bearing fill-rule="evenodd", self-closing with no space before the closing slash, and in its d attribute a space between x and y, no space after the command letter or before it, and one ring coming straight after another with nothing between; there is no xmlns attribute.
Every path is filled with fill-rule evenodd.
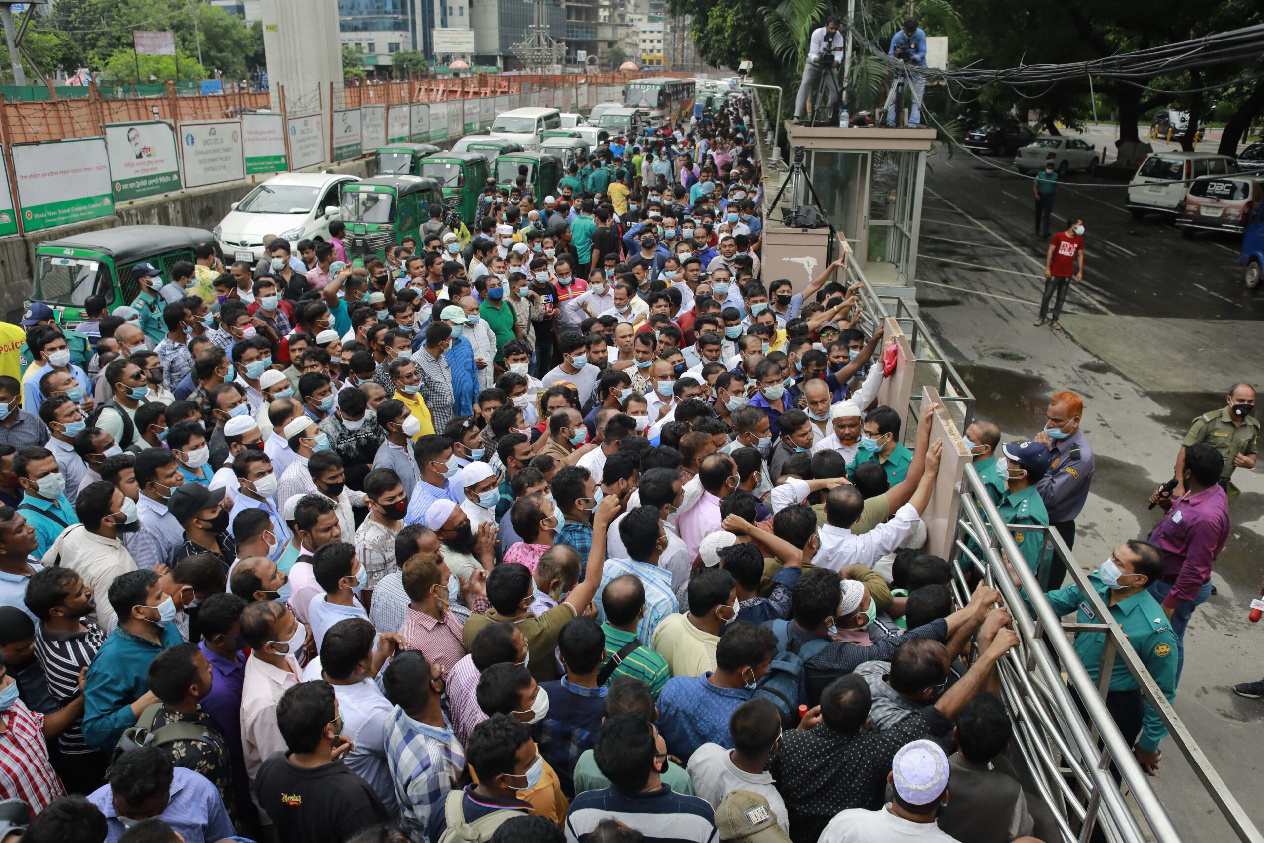
<svg viewBox="0 0 1264 843"><path fill-rule="evenodd" d="M468 241L436 209L386 259L140 264L131 306L87 301L82 365L34 305L0 377L0 823L1053 839L1006 761L1010 617L923 550L935 408L901 436L877 403L842 262L760 279L761 190L734 99L557 196L489 185ZM996 503L1069 542L1092 455L1054 398L1031 441L967 435ZM1146 594L1150 551L1111 588Z"/></svg>

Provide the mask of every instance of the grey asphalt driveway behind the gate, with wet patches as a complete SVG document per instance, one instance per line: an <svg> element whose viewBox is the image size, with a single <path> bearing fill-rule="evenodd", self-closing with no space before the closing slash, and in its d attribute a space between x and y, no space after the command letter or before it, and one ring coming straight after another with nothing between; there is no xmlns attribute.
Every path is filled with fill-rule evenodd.
<svg viewBox="0 0 1264 843"><path fill-rule="evenodd" d="M1066 332L1034 327L1048 241L1033 235L1030 182L1007 172L1006 159L940 149L930 163L916 268L921 316L971 385L976 415L997 422L1006 441L1040 430L1053 392L1083 396L1097 473L1074 550L1083 567L1095 569L1158 522L1148 497L1172 475L1193 417L1222 406L1230 379L1244 377L1231 373L1264 372L1264 298L1241 286L1231 238L1187 240L1158 217L1138 222L1122 207L1122 186L1091 187L1105 182L1072 174L1054 215L1063 220L1058 227L1068 214L1085 220L1085 282L1067 298ZM1111 343L1125 325L1136 339ZM1189 340L1208 335L1213 343ZM1184 356L1181 343L1189 345ZM1169 377L1153 370L1159 349ZM1198 608L1186 634L1176 708L1210 766L1264 828L1264 701L1231 691L1264 674L1264 623L1246 622L1264 575L1264 468L1239 469L1234 479L1244 490L1230 512L1234 536L1213 573L1218 594ZM1183 835L1237 839L1172 741L1162 748L1154 786Z"/></svg>

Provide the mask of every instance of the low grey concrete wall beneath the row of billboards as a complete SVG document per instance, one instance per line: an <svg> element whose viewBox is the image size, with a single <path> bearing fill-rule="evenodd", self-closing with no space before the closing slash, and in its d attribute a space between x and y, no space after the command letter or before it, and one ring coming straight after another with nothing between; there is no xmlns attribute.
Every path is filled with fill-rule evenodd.
<svg viewBox="0 0 1264 843"><path fill-rule="evenodd" d="M374 172L374 162L372 158L362 158L331 167L330 172L367 178ZM255 181L262 182L267 178L257 176ZM21 317L34 282L35 246L40 243L120 225L188 225L209 231L228 215L233 202L240 201L254 185L254 181L241 181L153 196L116 205L112 216L46 229L28 236L0 239L0 313L10 322Z"/></svg>

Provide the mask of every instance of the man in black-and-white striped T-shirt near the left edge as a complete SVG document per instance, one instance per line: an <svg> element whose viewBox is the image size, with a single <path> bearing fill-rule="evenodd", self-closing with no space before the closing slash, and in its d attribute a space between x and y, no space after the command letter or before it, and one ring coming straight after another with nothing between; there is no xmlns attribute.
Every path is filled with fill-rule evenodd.
<svg viewBox="0 0 1264 843"><path fill-rule="evenodd" d="M48 567L30 578L27 608L38 618L35 658L48 679L48 693L66 708L76 699L82 707L82 682L105 632L87 621L96 598L75 571ZM101 786L109 763L106 753L83 739L83 718L75 718L58 738L58 772L72 794L90 794Z"/></svg>

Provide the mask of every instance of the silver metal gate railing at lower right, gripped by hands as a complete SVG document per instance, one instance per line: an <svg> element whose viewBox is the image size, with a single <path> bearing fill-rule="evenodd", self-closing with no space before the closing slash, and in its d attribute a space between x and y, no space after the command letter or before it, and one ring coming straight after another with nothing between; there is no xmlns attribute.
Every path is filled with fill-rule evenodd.
<svg viewBox="0 0 1264 843"><path fill-rule="evenodd" d="M953 590L962 604L968 602L967 581L973 579L971 574L977 574L1000 590L1005 608L1014 618L1020 645L1000 665L1002 695L1014 720L1015 743L1043 801L1053 809L1063 839L1068 843L1087 840L1096 825L1112 843L1182 840L1168 808L1150 787L1149 777L1106 708L1115 660L1122 658L1145 700L1167 727L1168 741L1193 767L1237 839L1264 842L1154 684L1127 643L1127 636L1111 616L1110 607L1091 586L1087 574L1058 532L1043 530L1043 565L1049 564L1050 556L1063 560L1072 583L1097 617L1096 623L1060 621L1044 598L1036 574L1025 564L1014 565L1021 588L1014 584L1004 557L1021 560L1021 551L973 466L966 466L958 492L961 514L952 559ZM1042 528L1024 525L1021 530L1033 533ZM1096 684L1072 647L1068 633L1106 636ZM1112 770L1127 786L1127 799Z"/></svg>

